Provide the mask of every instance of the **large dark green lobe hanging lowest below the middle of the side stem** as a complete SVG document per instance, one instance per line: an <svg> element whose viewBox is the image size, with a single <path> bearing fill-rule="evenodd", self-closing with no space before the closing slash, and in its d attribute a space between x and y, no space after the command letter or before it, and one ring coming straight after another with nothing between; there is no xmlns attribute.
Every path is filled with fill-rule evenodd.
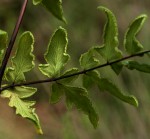
<svg viewBox="0 0 150 139"><path fill-rule="evenodd" d="M67 106L70 107L75 105L79 110L87 114L92 125L96 128L99 118L88 98L87 91L84 88L66 85L63 85L62 87L66 95Z"/></svg>

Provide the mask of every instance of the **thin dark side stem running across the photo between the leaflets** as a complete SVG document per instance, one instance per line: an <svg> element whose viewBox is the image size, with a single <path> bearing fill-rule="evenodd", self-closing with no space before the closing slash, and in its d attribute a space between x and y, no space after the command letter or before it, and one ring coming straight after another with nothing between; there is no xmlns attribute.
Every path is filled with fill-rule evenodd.
<svg viewBox="0 0 150 139"><path fill-rule="evenodd" d="M23 85L26 86L26 85L33 85L33 84L40 84L40 83L47 83L47 82L50 83L50 82L66 79L66 78L69 78L69 77L85 74L85 73L93 71L95 69L103 68L103 67L106 67L106 66L111 66L113 64L119 63L121 61L130 59L130 58L133 58L133 57L136 57L136 56L143 56L146 53L150 53L150 50L143 51L143 52L140 52L140 53L136 53L136 54L133 54L133 55L130 55L130 56L126 56L126 57L123 57L121 59L118 59L118 60L115 60L115 61L112 61L112 62L107 62L105 64L98 65L96 67L93 67L93 68L90 68L90 69L87 69L87 70L82 70L82 71L79 71L79 72L76 72L76 73L73 73L73 74L70 74L70 75L60 76L60 77L57 77L57 78L50 78L50 79L46 79L46 80L38 80L38 81L24 82L24 83L19 83L19 84L12 84L12 85L8 85L8 86L5 86L3 88L0 88L0 90L3 91L3 90L6 90L6 89L9 89L9 88L16 87L16 86L23 86Z"/></svg>

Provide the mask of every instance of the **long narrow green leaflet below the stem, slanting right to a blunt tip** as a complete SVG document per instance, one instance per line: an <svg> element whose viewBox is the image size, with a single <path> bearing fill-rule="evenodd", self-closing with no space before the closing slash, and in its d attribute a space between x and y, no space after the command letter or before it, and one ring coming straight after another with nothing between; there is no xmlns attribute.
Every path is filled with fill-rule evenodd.
<svg viewBox="0 0 150 139"><path fill-rule="evenodd" d="M138 101L136 100L136 98L132 95L124 95L119 88L117 88L117 86L115 84L113 84L112 82L110 82L108 79L105 78L100 78L100 75L98 72L92 71L89 72L88 74L84 75L84 76L89 76L87 78L90 78L89 81L92 84L92 82L96 83L100 89L100 91L108 91L110 94L112 94L113 96L117 97L118 99L129 103L133 106L138 106ZM85 79L83 80L83 84L86 87L88 81L86 81Z"/></svg>

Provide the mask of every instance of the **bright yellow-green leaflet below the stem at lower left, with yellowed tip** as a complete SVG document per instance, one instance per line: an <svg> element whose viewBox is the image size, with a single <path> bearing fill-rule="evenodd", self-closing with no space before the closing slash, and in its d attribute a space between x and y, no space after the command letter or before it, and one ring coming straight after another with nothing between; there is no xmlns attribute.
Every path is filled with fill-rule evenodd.
<svg viewBox="0 0 150 139"><path fill-rule="evenodd" d="M20 92L21 90L23 92ZM35 88L22 86L14 89L4 90L1 96L4 98L9 98L9 106L16 108L16 114L19 114L23 118L31 120L37 128L37 132L39 134L43 134L38 116L35 113L35 109L32 108L35 102L21 100L21 98L27 98L33 95L35 91Z"/></svg>

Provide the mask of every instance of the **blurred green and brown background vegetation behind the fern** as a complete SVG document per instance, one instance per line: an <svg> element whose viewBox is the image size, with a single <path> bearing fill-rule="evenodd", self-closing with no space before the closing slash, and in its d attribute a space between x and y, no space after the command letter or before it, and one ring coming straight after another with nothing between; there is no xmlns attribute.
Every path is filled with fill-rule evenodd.
<svg viewBox="0 0 150 139"><path fill-rule="evenodd" d="M0 29L11 36L22 1L0 0ZM52 32L63 26L68 31L68 53L71 55L69 67L79 67L78 59L91 46L102 44L102 30L106 21L98 6L106 6L114 12L118 20L120 49L124 32L130 21L139 14L150 16L149 0L69 0L63 1L64 14L68 24L55 19L44 8L32 5L29 1L19 34L30 30L35 36L36 65L44 62L43 54ZM146 21L138 36L145 49L150 49L150 19ZM19 36L19 35L18 35ZM12 52L14 54L15 49ZM140 58L136 58L140 60ZM146 56L141 62L150 63ZM64 100L58 104L49 104L49 84L37 85L36 112L39 115L44 135L36 134L30 122L16 116L9 108L8 100L0 98L0 138L1 139L149 139L150 133L150 75L123 69L117 77L110 68L100 70L103 76L116 82L127 94L135 95L139 107L134 108L117 100L107 93L99 92L96 87L89 90L92 101L98 111L100 122L93 129L87 117L76 109L67 111ZM37 66L27 73L27 80L43 79ZM79 79L78 84L81 84Z"/></svg>

